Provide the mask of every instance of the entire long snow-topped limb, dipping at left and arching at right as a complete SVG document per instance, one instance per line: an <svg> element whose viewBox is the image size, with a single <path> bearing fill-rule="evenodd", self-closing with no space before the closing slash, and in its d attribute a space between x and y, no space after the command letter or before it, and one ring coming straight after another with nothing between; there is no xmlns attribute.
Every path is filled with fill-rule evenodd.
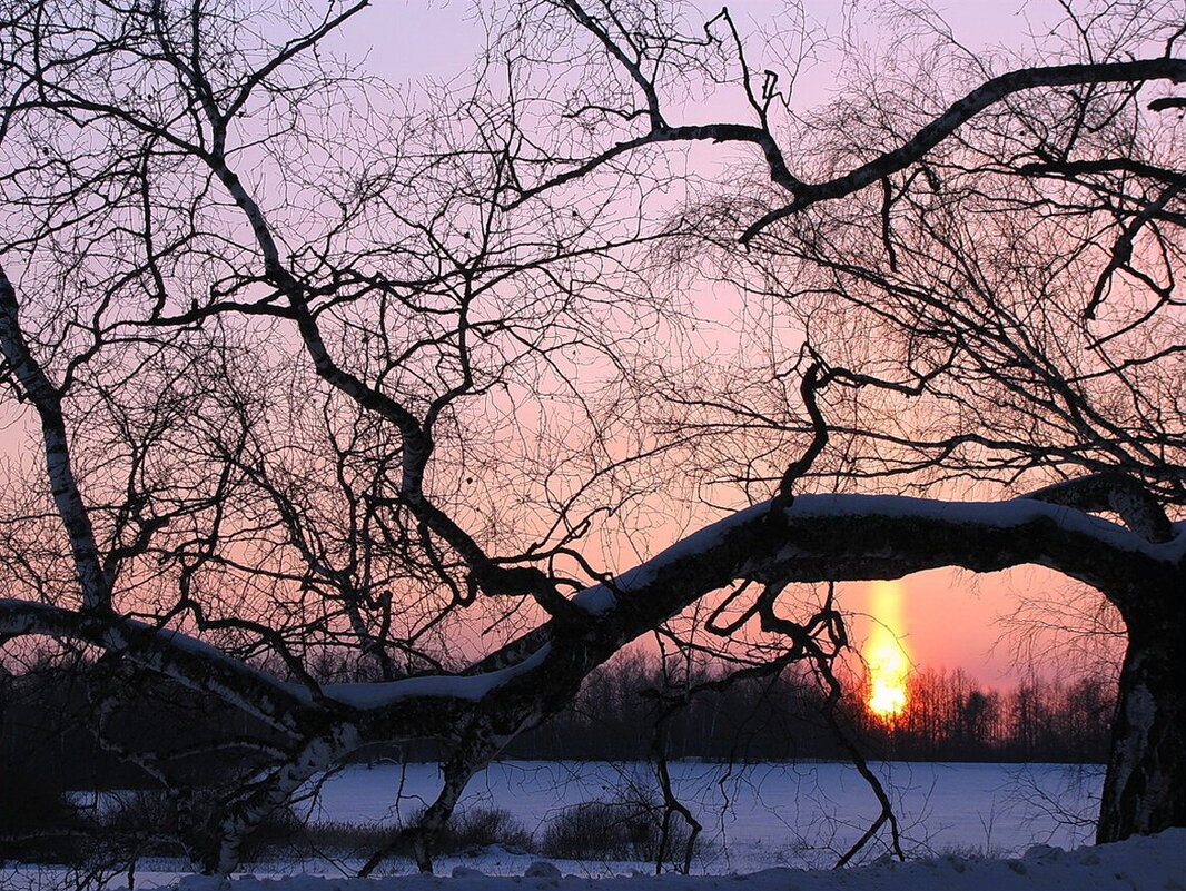
<svg viewBox="0 0 1186 891"><path fill-rule="evenodd" d="M1186 559L1186 524L1158 542L1079 507L1032 497L952 502L888 495L799 495L754 504L676 542L616 579L580 592L585 644L598 653L644 634L700 597L739 579L761 583L898 578L940 566L989 572L1038 564L1110 597L1126 580L1171 578ZM409 707L447 724L451 704L468 708L515 679L555 670L570 657L559 632L524 636L511 664L478 663L461 675L384 683L336 683L311 690L260 672L195 637L114 616L0 599L0 635L51 635L122 651L146 668L204 689L292 730L326 708L378 713ZM567 631L566 634L572 634ZM426 701L427 700L427 701ZM435 702L436 705L433 705ZM347 709L340 712L342 708ZM423 727L422 727L423 730Z"/></svg>

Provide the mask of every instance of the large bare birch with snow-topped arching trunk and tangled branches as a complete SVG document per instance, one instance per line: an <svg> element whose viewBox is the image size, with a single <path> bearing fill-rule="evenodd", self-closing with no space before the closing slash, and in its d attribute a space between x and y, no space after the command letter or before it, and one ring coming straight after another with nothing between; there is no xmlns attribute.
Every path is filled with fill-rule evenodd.
<svg viewBox="0 0 1186 891"><path fill-rule="evenodd" d="M815 152L852 172L809 185L776 139L774 84L745 68L727 17L684 37L662 5L516 8L473 85L415 112L319 50L363 6L4 6L0 350L6 411L40 466L17 463L4 504L0 634L91 648L113 676L162 675L263 728L234 740L251 766L212 808L174 790L203 868L234 870L254 827L358 746L432 737L445 783L413 839L428 868L472 774L630 641L699 616L722 639L755 625L777 664L827 672L846 642L839 612L830 599L803 609L792 583L935 566L1033 562L1117 604L1129 655L1099 838L1182 823L1184 556L1167 514L1180 402L1142 383L1180 356L1159 326L1178 312L1165 280L1180 261L1181 173L1136 139L1101 148L1126 121L1143 134L1142 82L1186 77L1172 40L1143 61L987 77L901 145L882 134L893 145L873 160L842 140ZM595 52L566 56L573 34ZM739 83L757 122L670 123L664 94L701 76ZM1040 91L1060 85L1069 98ZM1064 101L1082 108L1071 135L1051 129L1066 126ZM963 139L961 125L1002 102L988 147ZM1058 151L1013 151L1035 139ZM1095 160L1061 151L1067 139ZM757 146L790 203L767 209L755 189L658 216L651 197L693 196L656 147L689 140ZM859 154L880 144L862 139ZM1112 216L1120 252L1099 268L1085 223L1093 240L1067 273L1099 293L1075 291L1076 314L1052 279L1021 292L1021 312L993 279L975 307L954 301L956 281L986 281L956 202L1021 183L1034 191L1007 195L1016 206L1000 218L1041 217L1063 203L1039 191L1050 180L1078 216ZM884 197L871 201L871 183ZM753 211L744 225L739 209ZM686 383L675 358L653 387L639 374L639 338L680 345L695 322L657 286L651 246L706 235L755 291L795 306L803 294L778 284L795 263L818 299L803 324L825 339L759 381L784 406L744 409L695 386L664 400ZM737 236L751 254L733 254ZM1070 323L1137 299L1111 295L1118 276L1134 294L1165 291L1105 342L1146 352L1056 361L1067 357L1054 346L1097 349L1069 341L1088 331ZM1046 301L1064 327L1037 324ZM833 306L888 332L882 361L829 355ZM1112 383L1128 384L1140 424L1097 406ZM1000 394L1016 403L1010 427L986 437ZM959 428L868 422L885 415L866 405L899 395L957 406ZM644 424L656 400L687 424ZM620 558L604 542L637 536L644 511L671 513L714 427L726 453L734 431L777 440L728 471L773 497L611 572ZM755 476L761 462L777 470ZM927 497L798 491L825 469ZM958 476L1002 483L1000 497L931 488ZM1046 488L1016 497L1032 478ZM318 677L327 650L349 653L359 680ZM138 757L173 782L155 753Z"/></svg>

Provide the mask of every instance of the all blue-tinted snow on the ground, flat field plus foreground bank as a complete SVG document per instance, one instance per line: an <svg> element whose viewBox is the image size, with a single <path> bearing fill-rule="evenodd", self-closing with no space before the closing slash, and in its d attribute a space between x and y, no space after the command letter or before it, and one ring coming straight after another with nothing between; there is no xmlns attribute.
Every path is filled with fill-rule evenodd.
<svg viewBox="0 0 1186 891"><path fill-rule="evenodd" d="M476 777L461 808L510 812L536 838L550 819L581 801L613 800L652 784L645 764L504 762ZM876 813L868 788L841 764L671 765L680 795L704 825L708 844L694 864L697 877L645 876L637 863L541 861L503 847L440 858L436 877L420 877L407 861L372 880L345 878L355 863L253 864L231 891L839 891L847 889L1158 889L1186 890L1186 830L1120 846L1080 848L1096 807L1098 769L1066 765L885 764L903 821L906 864L876 863L841 871L830 866ZM434 765L352 766L326 778L301 804L314 821L384 821L422 807L439 785ZM1057 847L1052 847L1057 846ZM999 859L990 860L986 857ZM918 858L918 859L914 859ZM135 887L208 891L211 882L184 876L184 865L144 860ZM445 878L449 877L449 878ZM565 877L565 878L561 878ZM53 867L0 868L5 891L59 891L74 877ZM126 872L111 889L127 889Z"/></svg>

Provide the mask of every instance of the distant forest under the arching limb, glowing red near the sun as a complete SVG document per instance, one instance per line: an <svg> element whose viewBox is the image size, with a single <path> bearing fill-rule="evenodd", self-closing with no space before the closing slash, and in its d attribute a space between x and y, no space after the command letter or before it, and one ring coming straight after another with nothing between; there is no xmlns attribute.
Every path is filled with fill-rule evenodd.
<svg viewBox="0 0 1186 891"><path fill-rule="evenodd" d="M667 698L713 679L709 667L672 687L645 660L619 660L589 677L572 708L516 740L508 757L645 759L655 751ZM910 705L893 723L872 717L862 693L854 688L841 701L839 723L872 759L1107 760L1114 692L1095 677L1033 680L1001 692L962 670L923 670L912 676ZM842 760L824 708L810 677L786 673L704 692L665 721L662 751L704 760Z"/></svg>

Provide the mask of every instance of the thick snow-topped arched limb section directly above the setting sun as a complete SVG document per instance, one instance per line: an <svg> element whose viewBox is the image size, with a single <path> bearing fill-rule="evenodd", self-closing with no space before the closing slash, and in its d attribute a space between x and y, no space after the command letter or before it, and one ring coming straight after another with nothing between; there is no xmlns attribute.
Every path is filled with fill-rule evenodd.
<svg viewBox="0 0 1186 891"><path fill-rule="evenodd" d="M1172 574L1186 529L1155 542L1075 507L1033 498L955 502L892 495L801 495L727 516L575 598L591 616L655 622L738 579L764 583L899 578L959 566L1037 564L1102 591Z"/></svg>

